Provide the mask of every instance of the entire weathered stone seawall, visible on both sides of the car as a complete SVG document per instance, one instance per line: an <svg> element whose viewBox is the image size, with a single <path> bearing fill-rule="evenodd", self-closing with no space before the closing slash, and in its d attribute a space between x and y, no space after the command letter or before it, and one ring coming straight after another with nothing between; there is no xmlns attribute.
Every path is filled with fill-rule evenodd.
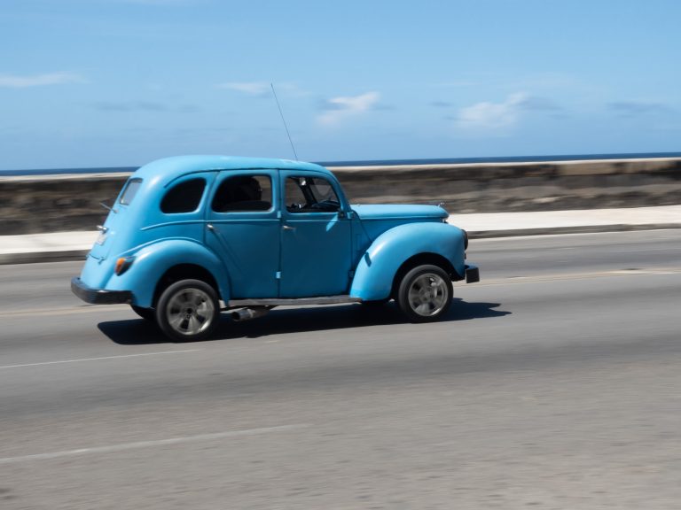
<svg viewBox="0 0 681 510"><path fill-rule="evenodd" d="M331 168L352 203L450 213L681 204L681 158ZM0 236L92 230L129 174L0 178Z"/></svg>

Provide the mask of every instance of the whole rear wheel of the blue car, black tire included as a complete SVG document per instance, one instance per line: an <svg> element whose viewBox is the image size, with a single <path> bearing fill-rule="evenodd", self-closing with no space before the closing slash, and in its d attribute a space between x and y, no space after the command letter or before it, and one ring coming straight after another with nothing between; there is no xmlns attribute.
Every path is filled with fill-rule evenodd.
<svg viewBox="0 0 681 510"><path fill-rule="evenodd" d="M156 322L176 342L202 340L220 321L220 304L215 289L200 280L180 280L160 294Z"/></svg>

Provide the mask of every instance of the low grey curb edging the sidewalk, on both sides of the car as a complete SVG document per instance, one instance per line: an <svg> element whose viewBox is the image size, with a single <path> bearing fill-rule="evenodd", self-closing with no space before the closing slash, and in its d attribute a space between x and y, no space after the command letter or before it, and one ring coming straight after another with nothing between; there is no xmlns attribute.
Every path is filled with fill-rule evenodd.
<svg viewBox="0 0 681 510"><path fill-rule="evenodd" d="M606 232L634 232L639 230L667 230L681 228L681 223L649 223L646 225L581 225L554 228L517 228L509 230L468 230L471 239L490 239L495 237L552 236L562 234L602 234ZM73 262L84 260L87 250L30 251L25 253L0 254L0 266L12 264L40 264L49 262Z"/></svg>

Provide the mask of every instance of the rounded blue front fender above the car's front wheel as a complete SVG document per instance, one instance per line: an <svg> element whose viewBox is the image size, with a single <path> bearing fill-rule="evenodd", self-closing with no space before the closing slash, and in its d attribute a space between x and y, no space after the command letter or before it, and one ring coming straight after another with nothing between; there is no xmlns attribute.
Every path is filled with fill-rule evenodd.
<svg viewBox="0 0 681 510"><path fill-rule="evenodd" d="M369 246L357 264L350 296L365 301L390 297L393 280L404 261L421 253L435 253L465 272L464 233L447 223L409 223L390 228Z"/></svg>

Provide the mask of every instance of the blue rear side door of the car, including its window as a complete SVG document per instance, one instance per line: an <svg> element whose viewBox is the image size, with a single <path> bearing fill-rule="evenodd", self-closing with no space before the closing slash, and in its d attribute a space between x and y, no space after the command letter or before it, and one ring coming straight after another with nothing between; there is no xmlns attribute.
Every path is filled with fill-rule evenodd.
<svg viewBox="0 0 681 510"><path fill-rule="evenodd" d="M277 171L224 171L207 207L206 243L222 259L230 298L277 298Z"/></svg>

